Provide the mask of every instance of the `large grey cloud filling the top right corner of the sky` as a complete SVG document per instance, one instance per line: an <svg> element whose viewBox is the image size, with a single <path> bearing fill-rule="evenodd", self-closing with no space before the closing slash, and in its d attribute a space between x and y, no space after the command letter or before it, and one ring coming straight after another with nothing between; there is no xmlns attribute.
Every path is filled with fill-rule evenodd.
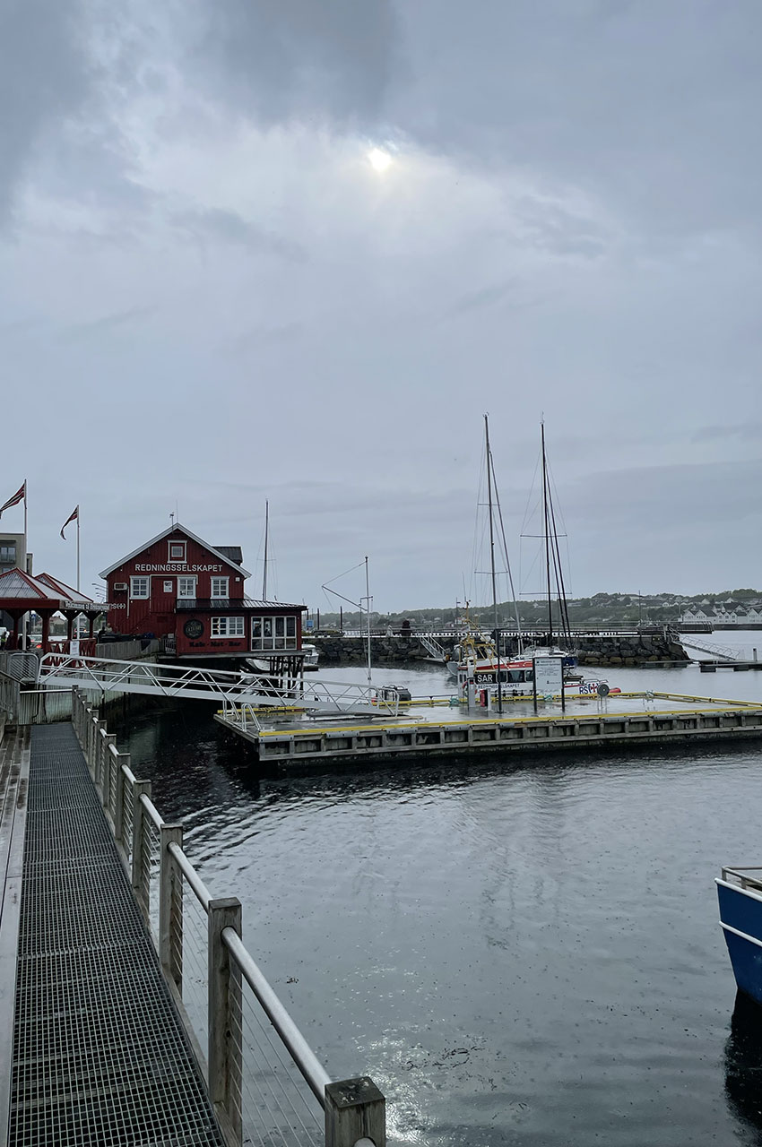
<svg viewBox="0 0 762 1147"><path fill-rule="evenodd" d="M399 10L413 79L387 111L414 138L614 193L664 233L759 221L757 0Z"/></svg>

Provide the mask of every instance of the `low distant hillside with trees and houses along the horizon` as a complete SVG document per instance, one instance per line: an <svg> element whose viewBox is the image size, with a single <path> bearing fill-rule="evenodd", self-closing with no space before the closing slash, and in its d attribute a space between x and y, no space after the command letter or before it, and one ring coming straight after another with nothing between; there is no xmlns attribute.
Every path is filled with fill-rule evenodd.
<svg viewBox="0 0 762 1147"><path fill-rule="evenodd" d="M569 599L569 621L573 629L605 627L606 625L662 625L668 622L676 622L684 610L691 606L725 606L730 611L739 606L762 604L762 590L722 590L720 593L697 593L693 596L687 594L656 593L596 593L592 598ZM492 627L492 607L472 606L469 617L476 624ZM462 617L462 610L458 611ZM511 625L515 622L513 602L500 602L498 616L501 625ZM521 601L519 602L519 616L522 625L536 625L544 623L547 617L547 603L544 601ZM553 610L555 622L557 610ZM317 612L311 612L310 617L317 624ZM359 614L345 612L343 615L344 626L359 624ZM386 625L396 626L405 618L413 625L427 625L443 627L450 626L456 621L453 607L431 607L430 609L403 609L394 614L372 614L371 622L374 627ZM339 614L324 612L320 610L320 626L334 629L339 625Z"/></svg>

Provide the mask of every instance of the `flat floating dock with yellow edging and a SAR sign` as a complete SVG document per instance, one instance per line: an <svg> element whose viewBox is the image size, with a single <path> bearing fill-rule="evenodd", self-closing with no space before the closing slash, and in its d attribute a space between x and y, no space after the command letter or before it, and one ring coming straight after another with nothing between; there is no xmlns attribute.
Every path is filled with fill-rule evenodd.
<svg viewBox="0 0 762 1147"><path fill-rule="evenodd" d="M561 712L557 705L541 715L521 712L514 703L513 711L503 716L495 711L472 712L450 719L409 711L395 719L311 721L303 716L298 721L272 719L265 724L263 711L251 720L250 715L247 719L246 713L230 709L216 713L215 719L249 742L262 765L283 771L321 771L340 763L405 762L453 754L563 751L762 736L762 707L757 704L677 694L653 694L646 704L644 700L645 695L622 695L614 699L615 704L596 703L593 711L580 707ZM633 707L632 702L639 703ZM413 701L411 709L417 705Z"/></svg>

